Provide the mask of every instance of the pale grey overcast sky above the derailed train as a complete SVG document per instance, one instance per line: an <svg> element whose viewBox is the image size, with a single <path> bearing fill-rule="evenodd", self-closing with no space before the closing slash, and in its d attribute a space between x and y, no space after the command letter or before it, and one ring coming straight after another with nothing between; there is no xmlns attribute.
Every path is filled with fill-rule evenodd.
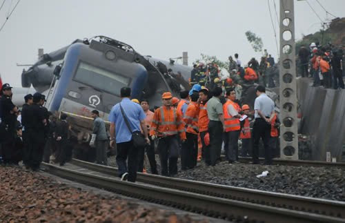
<svg viewBox="0 0 345 223"><path fill-rule="evenodd" d="M5 1L0 27L17 1ZM278 30L273 1L278 16L279 1L269 0ZM326 19L316 0L308 2ZM344 0L319 2L335 16L345 17ZM295 1L296 39L319 30L320 24L306 1ZM247 30L262 37L264 48L277 57L266 0L22 0L0 32L0 74L3 81L21 86L23 67L16 64L33 64L38 48L51 52L95 35L124 41L142 55L161 59L188 51L189 64L200 53L226 60L238 52L242 61L248 61L261 54L248 43Z"/></svg>

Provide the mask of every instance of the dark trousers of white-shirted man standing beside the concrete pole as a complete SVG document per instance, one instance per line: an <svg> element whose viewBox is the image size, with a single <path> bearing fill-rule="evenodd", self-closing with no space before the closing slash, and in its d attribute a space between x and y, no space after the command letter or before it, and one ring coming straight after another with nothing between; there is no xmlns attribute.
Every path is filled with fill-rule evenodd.
<svg viewBox="0 0 345 223"><path fill-rule="evenodd" d="M272 155L270 152L270 124L264 119L257 118L253 126L253 162L259 163L259 142L260 138L264 142L265 148L265 164L272 163Z"/></svg>

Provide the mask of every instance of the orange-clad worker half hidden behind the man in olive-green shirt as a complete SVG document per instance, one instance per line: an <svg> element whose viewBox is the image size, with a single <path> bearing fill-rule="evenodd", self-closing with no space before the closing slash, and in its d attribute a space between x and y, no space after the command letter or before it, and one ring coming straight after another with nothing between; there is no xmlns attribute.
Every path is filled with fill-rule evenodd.
<svg viewBox="0 0 345 223"><path fill-rule="evenodd" d="M208 133L208 119L207 115L207 101L208 101L208 89L201 89L199 92L199 134L201 139L201 159L204 159L206 165L210 165L210 145L206 146L205 135Z"/></svg>

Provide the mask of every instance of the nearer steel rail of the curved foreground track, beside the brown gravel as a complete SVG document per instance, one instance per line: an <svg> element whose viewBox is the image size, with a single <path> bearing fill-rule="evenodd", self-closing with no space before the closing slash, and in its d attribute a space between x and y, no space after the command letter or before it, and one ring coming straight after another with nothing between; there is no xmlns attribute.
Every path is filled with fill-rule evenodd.
<svg viewBox="0 0 345 223"><path fill-rule="evenodd" d="M46 172L59 177L212 217L244 220L246 222L345 222L344 219L337 217L250 204L147 184L124 182L110 177L72 171L52 164L43 163L42 165L46 167Z"/></svg>

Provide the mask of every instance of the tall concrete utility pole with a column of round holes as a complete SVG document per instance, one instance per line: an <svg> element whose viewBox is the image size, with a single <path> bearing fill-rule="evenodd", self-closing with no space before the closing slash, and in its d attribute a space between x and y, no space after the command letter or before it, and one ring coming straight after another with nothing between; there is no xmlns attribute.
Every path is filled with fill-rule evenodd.
<svg viewBox="0 0 345 223"><path fill-rule="evenodd" d="M294 1L280 0L280 157L298 159Z"/></svg>

